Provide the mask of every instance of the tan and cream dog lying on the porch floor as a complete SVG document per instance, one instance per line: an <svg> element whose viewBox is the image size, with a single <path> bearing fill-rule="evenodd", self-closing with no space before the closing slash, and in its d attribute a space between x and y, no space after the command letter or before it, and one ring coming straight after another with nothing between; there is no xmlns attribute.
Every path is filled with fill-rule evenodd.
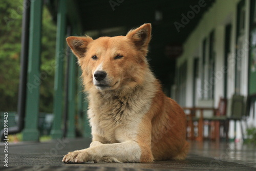
<svg viewBox="0 0 256 171"><path fill-rule="evenodd" d="M151 24L126 36L67 38L88 93L89 148L69 152L65 163L183 160L186 116L165 96L146 55Z"/></svg>

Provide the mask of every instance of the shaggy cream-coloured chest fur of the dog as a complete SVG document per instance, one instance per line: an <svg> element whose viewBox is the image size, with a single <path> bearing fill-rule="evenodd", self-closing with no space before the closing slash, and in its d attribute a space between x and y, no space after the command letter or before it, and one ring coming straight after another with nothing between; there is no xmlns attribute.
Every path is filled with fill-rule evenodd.
<svg viewBox="0 0 256 171"><path fill-rule="evenodd" d="M150 110L154 95L152 84L136 88L122 97L111 93L89 95L92 135L104 138L106 143L134 139L142 117Z"/></svg>

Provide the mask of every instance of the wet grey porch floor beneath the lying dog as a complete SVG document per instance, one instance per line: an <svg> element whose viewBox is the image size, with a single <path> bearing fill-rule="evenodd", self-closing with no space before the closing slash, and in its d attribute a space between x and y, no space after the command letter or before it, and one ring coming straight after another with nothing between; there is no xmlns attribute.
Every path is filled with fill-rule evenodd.
<svg viewBox="0 0 256 171"><path fill-rule="evenodd" d="M62 163L63 155L89 147L91 139L52 140L8 144L8 167L4 166L4 145L0 145L0 170L256 170L256 147L241 143L191 142L183 161L154 163Z"/></svg>

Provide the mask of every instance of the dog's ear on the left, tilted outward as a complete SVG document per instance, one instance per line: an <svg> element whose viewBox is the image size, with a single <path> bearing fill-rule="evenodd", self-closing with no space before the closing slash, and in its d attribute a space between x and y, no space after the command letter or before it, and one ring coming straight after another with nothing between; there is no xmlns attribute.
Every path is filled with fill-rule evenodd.
<svg viewBox="0 0 256 171"><path fill-rule="evenodd" d="M70 36L66 40L72 52L77 56L78 59L84 56L84 53L86 53L88 44L91 41L93 41L93 39L89 36L87 37Z"/></svg>

